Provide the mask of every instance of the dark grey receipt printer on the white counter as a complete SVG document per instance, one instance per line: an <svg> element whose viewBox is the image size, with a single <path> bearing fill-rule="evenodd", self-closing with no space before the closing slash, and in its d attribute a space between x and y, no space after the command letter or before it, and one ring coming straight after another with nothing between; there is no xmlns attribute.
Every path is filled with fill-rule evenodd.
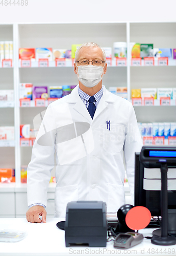
<svg viewBox="0 0 176 256"><path fill-rule="evenodd" d="M65 245L106 247L107 207L102 201L69 202L66 208Z"/></svg>

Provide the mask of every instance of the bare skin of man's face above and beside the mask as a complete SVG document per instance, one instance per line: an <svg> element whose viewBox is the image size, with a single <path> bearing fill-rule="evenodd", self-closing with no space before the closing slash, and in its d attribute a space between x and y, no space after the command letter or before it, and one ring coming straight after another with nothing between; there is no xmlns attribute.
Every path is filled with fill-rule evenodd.
<svg viewBox="0 0 176 256"><path fill-rule="evenodd" d="M103 56L102 50L99 47L97 47L97 46L95 46L95 47L88 46L88 47L81 48L81 50L79 51L79 55L78 55L77 60L80 60L80 59L87 59L87 60L90 60L90 61L92 61L94 59L100 59L100 60L104 61L104 56ZM92 62L89 62L89 65L92 65ZM74 63L74 73L75 74L78 74L77 66L80 66L79 63L77 62L77 65L76 65L76 63ZM103 62L101 66L104 67L103 74L106 74L107 63Z"/></svg>

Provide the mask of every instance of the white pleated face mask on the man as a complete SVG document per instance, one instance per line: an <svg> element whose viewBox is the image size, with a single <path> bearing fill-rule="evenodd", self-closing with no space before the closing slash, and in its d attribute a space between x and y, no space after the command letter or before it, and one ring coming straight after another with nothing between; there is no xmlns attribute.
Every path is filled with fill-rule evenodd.
<svg viewBox="0 0 176 256"><path fill-rule="evenodd" d="M77 66L78 79L84 84L84 86L92 88L102 80L102 74L104 67L97 67L93 65Z"/></svg>

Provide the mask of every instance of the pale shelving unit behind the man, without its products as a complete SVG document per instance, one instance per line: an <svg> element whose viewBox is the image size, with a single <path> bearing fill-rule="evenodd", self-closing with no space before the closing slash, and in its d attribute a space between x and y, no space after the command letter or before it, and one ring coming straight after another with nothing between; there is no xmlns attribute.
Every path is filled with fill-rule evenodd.
<svg viewBox="0 0 176 256"><path fill-rule="evenodd" d="M12 68L0 65L0 89L14 89L14 102L0 102L0 126L15 126L15 141L0 143L1 168L15 168L16 184L20 186L20 166L28 165L32 147L20 147L19 125L30 123L45 107L20 107L19 83L31 82L34 86L62 86L77 84L78 78L73 72L72 62L66 61L65 67L56 67L55 61L49 61L49 67L39 68L38 61L32 61L30 68L21 68L18 59L19 48L52 47L53 49L71 49L72 44L95 41L102 47L112 47L115 41L153 43L158 48L176 48L176 23L87 23L87 24L0 24L0 40L13 40L14 59ZM176 87L176 60L169 60L167 67L131 66L128 54L127 66L117 67L115 60L108 67L103 84L109 87L128 87L128 100L131 101L131 89ZM134 106L138 122L176 122L176 101L169 106L160 106L155 100L153 106ZM8 166L7 166L8 165ZM12 167L11 167L12 166ZM54 176L54 175L53 175ZM1 188L2 184L0 184ZM23 189L26 191L26 185ZM18 190L18 191L19 191ZM3 191L3 188L2 190ZM52 200L51 200L52 201ZM19 212L18 212L19 214ZM1 216L1 212L0 212Z"/></svg>

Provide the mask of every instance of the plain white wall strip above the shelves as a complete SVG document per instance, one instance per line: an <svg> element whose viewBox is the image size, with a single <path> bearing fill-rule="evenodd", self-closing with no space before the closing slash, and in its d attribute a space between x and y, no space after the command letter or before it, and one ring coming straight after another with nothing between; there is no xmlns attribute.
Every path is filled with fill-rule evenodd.
<svg viewBox="0 0 176 256"><path fill-rule="evenodd" d="M176 21L176 1L173 0L28 0L28 2L28 6L1 5L0 23Z"/></svg>

